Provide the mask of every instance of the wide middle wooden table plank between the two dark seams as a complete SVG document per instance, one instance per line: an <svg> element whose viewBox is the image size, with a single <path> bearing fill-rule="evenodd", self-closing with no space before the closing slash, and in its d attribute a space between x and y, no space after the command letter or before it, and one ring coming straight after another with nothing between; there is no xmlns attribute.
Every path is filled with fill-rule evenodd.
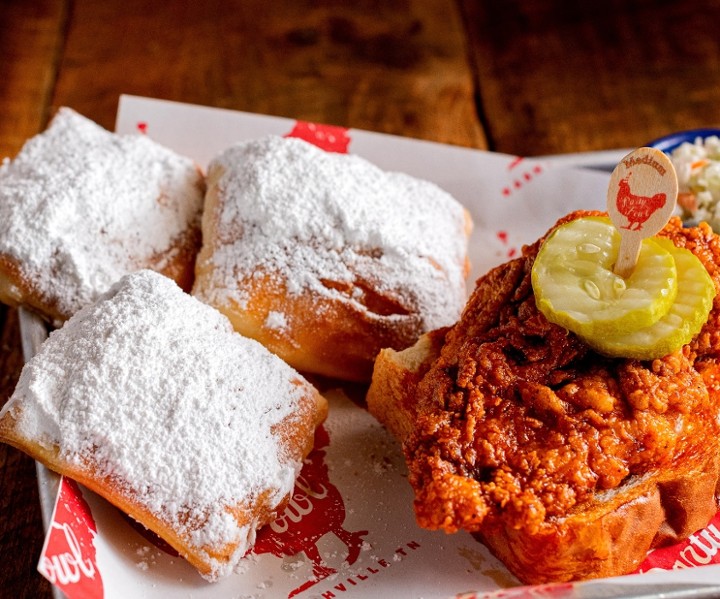
<svg viewBox="0 0 720 599"><path fill-rule="evenodd" d="M451 0L80 0L53 104L111 128L130 93L484 147L473 85Z"/></svg>

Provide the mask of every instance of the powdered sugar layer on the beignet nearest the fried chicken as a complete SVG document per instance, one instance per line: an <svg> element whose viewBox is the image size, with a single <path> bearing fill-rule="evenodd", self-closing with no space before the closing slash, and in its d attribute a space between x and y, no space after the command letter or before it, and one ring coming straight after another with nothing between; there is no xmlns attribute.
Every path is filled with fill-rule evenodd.
<svg viewBox="0 0 720 599"><path fill-rule="evenodd" d="M388 321L419 316L422 330L459 315L465 217L434 184L273 136L227 149L209 167L217 176L213 279L194 289L206 301L246 300L237 281L262 271L291 295L311 290ZM373 313L358 284L402 313Z"/></svg>

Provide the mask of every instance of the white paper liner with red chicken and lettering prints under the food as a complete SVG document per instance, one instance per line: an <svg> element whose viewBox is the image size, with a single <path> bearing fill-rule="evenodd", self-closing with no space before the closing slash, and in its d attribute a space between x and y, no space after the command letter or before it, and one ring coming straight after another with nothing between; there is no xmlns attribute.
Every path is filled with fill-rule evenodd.
<svg viewBox="0 0 720 599"><path fill-rule="evenodd" d="M474 218L471 280L570 210L602 209L608 182L607 173L552 160L132 96L121 98L116 128L149 135L203 167L234 142L272 133L434 181ZM22 311L21 327L27 358L45 331ZM470 535L418 528L397 443L359 406L356 389L324 392L330 414L294 497L237 574L206 582L116 508L42 467L48 534L38 569L71 599L720 596L720 515L687 542L650 554L642 575L520 587Z"/></svg>

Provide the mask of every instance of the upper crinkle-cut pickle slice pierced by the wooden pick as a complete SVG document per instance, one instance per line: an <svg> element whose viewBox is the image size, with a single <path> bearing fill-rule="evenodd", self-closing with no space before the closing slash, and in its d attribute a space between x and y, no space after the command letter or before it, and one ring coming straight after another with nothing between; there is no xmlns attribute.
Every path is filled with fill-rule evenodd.
<svg viewBox="0 0 720 599"><path fill-rule="evenodd" d="M623 278L613 272L619 247L620 234L608 218L580 218L558 227L532 269L538 309L586 340L657 322L677 294L673 256L644 239L633 273Z"/></svg>

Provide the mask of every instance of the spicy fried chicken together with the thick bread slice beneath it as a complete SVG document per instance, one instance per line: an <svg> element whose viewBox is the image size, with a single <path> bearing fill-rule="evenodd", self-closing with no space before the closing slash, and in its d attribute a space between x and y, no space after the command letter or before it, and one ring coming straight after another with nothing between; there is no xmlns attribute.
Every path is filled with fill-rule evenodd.
<svg viewBox="0 0 720 599"><path fill-rule="evenodd" d="M709 227L661 235L720 290ZM421 526L477 534L524 582L622 574L718 510L720 296L673 354L606 358L538 311L543 240L479 279L424 349L381 354L368 407L403 441Z"/></svg>

